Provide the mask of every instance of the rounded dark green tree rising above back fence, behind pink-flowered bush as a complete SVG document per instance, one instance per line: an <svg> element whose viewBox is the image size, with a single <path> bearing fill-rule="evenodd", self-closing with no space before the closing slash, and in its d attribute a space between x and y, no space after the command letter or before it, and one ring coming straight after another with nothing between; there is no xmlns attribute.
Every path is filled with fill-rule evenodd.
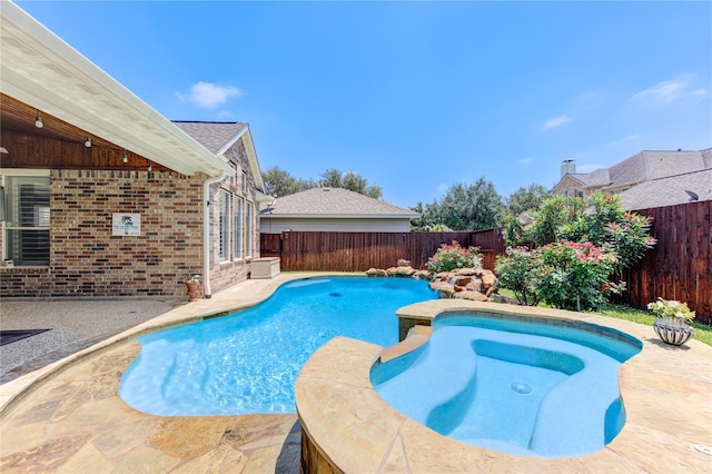
<svg viewBox="0 0 712 474"><path fill-rule="evenodd" d="M435 220L454 230L482 230L496 227L503 214L502 197L481 177L474 185L453 185L438 203Z"/></svg>

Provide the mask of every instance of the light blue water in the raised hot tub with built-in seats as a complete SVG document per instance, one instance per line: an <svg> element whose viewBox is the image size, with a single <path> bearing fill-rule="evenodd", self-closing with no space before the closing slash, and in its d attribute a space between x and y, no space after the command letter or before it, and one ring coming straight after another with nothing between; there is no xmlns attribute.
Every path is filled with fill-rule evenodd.
<svg viewBox="0 0 712 474"><path fill-rule="evenodd" d="M408 417L464 443L543 457L599 451L623 427L617 371L640 340L482 316L433 327L419 349L372 369L376 392Z"/></svg>

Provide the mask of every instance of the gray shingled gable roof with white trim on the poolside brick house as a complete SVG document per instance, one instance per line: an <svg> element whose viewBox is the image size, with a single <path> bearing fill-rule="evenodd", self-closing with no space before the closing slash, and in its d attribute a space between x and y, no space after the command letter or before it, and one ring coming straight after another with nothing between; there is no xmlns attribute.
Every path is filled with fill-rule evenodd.
<svg viewBox="0 0 712 474"><path fill-rule="evenodd" d="M260 191L265 190L263 174L259 170L257 154L249 132L249 125L239 121L187 120L175 120L174 124L215 155L221 156L241 138L255 179L255 187Z"/></svg>

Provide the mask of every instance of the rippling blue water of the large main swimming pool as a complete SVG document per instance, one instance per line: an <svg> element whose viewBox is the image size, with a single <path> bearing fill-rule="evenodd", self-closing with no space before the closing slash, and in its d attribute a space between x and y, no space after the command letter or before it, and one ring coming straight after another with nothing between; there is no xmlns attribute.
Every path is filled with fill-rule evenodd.
<svg viewBox="0 0 712 474"><path fill-rule="evenodd" d="M396 344L395 312L435 298L411 278L288 283L251 308L140 337L119 395L164 416L294 413L294 383L318 347L336 336Z"/></svg>

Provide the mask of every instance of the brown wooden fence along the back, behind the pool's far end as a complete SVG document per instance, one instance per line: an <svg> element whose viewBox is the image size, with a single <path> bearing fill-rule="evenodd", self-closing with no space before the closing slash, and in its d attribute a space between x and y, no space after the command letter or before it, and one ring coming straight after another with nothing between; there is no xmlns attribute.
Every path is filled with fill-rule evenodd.
<svg viewBox="0 0 712 474"><path fill-rule="evenodd" d="M284 271L365 271L388 268L399 258L414 268L425 268L442 244L457 240L463 247L479 247L483 267L493 269L504 254L500 228L476 233L305 233L261 234L260 256L279 257Z"/></svg>

